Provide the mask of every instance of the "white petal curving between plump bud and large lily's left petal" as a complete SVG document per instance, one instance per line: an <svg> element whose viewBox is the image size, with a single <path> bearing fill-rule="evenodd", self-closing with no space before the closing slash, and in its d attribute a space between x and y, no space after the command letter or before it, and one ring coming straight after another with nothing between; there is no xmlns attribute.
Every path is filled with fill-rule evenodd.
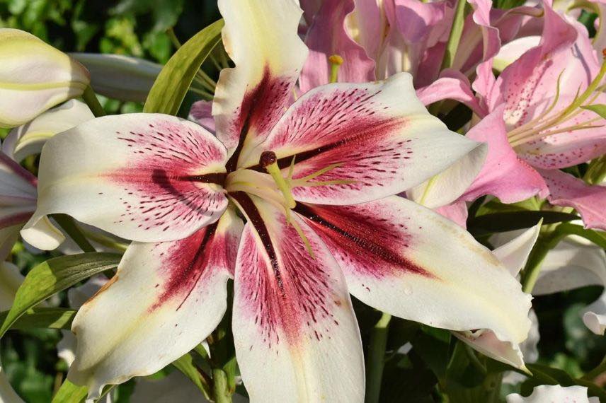
<svg viewBox="0 0 606 403"><path fill-rule="evenodd" d="M39 154L48 139L94 118L93 112L79 100L69 100L31 122L12 129L2 144L2 151L13 160Z"/></svg>

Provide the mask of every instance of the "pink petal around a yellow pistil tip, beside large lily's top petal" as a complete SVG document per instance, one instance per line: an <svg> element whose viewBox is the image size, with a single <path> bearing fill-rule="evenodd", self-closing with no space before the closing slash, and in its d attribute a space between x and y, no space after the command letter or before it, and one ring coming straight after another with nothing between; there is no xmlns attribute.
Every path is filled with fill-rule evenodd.
<svg viewBox="0 0 606 403"><path fill-rule="evenodd" d="M331 64L328 57L333 54L343 58L338 71L339 82L363 83L375 80L375 62L345 30L345 17L353 8L353 0L326 0L316 14L305 39L309 57L299 78L303 92L329 82Z"/></svg>

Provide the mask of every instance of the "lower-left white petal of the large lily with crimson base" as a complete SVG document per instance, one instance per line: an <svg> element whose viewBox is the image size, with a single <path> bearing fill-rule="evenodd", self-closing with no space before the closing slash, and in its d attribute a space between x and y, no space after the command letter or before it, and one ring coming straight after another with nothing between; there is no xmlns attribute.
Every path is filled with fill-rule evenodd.
<svg viewBox="0 0 606 403"><path fill-rule="evenodd" d="M74 318L69 379L104 385L155 373L204 340L227 308L242 221L228 209L188 238L132 243L118 273Z"/></svg>

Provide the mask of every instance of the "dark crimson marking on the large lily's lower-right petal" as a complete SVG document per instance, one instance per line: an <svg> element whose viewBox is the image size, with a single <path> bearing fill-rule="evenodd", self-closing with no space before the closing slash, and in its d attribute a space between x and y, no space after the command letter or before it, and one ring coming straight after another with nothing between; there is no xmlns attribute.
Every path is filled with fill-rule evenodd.
<svg viewBox="0 0 606 403"><path fill-rule="evenodd" d="M373 204L320 206L299 203L295 211L306 217L331 249L341 267L363 276L384 279L401 274L433 274L406 258L414 242L401 221L383 217Z"/></svg>

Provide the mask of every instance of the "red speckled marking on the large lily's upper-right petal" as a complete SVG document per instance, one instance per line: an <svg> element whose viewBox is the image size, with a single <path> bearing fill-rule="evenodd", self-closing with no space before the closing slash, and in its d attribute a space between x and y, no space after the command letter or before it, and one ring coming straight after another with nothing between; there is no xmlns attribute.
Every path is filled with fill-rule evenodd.
<svg viewBox="0 0 606 403"><path fill-rule="evenodd" d="M380 93L376 88L316 91L293 105L295 110L278 123L263 148L282 155L278 160L280 168L287 168L294 157L293 177L297 179L328 165L339 164L311 182L353 181L341 185L295 187L295 197L383 186L394 180L403 163L412 158L413 139L397 135L406 126L406 119L386 117L382 112L388 106L376 99ZM298 152L283 156L290 149ZM252 169L262 170L258 165Z"/></svg>

